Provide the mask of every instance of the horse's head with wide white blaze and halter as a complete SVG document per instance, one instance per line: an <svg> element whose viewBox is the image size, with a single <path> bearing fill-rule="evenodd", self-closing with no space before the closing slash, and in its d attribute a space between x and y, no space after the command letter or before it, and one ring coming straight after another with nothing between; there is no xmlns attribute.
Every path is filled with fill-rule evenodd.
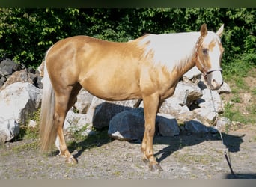
<svg viewBox="0 0 256 187"><path fill-rule="evenodd" d="M196 44L195 64L204 74L204 79L210 86L210 89L219 89L223 84L222 79L222 43L220 37L222 35L224 25L219 28L216 33L207 31L205 24L201 25L200 37Z"/></svg>

